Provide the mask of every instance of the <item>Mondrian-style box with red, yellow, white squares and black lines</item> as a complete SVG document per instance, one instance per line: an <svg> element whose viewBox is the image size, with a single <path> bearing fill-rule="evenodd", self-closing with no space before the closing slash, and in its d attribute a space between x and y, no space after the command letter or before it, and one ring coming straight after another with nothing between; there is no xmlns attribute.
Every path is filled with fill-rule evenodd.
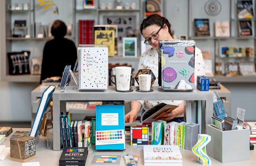
<svg viewBox="0 0 256 166"><path fill-rule="evenodd" d="M131 146L149 144L148 125L131 125L130 133Z"/></svg>

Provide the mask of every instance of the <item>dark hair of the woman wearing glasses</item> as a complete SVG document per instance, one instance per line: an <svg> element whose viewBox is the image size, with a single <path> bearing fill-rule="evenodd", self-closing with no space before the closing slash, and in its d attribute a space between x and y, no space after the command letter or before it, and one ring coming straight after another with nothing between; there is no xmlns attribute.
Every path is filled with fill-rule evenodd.
<svg viewBox="0 0 256 166"><path fill-rule="evenodd" d="M145 18L141 25L140 25L140 32L142 34L142 30L145 29L148 26L151 25L158 25L160 27L162 27L164 24L166 24L166 26L168 27L169 30L169 34L171 35L171 37L174 37L174 32L171 30L171 24L169 23L169 21L165 18L162 17L161 15L158 14L152 14L149 15L147 18Z"/></svg>

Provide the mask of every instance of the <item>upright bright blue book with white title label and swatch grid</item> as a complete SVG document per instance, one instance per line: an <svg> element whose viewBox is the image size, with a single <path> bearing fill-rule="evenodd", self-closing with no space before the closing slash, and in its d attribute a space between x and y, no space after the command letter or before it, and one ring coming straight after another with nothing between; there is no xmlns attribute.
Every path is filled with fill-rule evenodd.
<svg viewBox="0 0 256 166"><path fill-rule="evenodd" d="M111 137L112 139L125 139L124 133L124 106L123 105L97 105L96 106L96 150L125 150L125 142L121 144L101 144L97 145L97 139L105 137L97 137L99 131L119 130L116 133L119 137ZM110 135L110 134L109 134ZM113 136L113 134L112 134ZM105 140L108 140L108 135Z"/></svg>

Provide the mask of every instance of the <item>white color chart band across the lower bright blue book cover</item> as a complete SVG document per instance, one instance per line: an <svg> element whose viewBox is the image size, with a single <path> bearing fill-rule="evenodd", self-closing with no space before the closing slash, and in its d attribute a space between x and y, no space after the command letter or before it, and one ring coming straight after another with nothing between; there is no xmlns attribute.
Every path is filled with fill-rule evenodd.
<svg viewBox="0 0 256 166"><path fill-rule="evenodd" d="M124 130L96 131L96 145L104 144L124 144Z"/></svg>

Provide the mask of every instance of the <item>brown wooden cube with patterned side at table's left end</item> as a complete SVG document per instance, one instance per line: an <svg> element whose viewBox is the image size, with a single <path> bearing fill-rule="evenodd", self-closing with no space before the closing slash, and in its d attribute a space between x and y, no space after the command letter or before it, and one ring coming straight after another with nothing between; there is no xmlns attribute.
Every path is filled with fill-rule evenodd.
<svg viewBox="0 0 256 166"><path fill-rule="evenodd" d="M36 137L20 135L10 139L10 156L25 160L36 155ZM22 162L22 161L20 161Z"/></svg>

